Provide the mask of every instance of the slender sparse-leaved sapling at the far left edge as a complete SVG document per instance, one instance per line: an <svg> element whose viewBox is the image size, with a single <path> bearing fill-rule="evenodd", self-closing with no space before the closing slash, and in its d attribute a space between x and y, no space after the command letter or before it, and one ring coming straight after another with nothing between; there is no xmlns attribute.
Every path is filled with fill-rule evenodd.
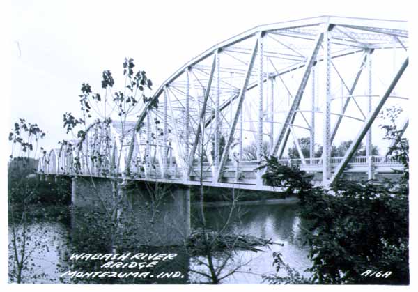
<svg viewBox="0 0 418 292"><path fill-rule="evenodd" d="M45 277L37 270L32 257L33 253L47 249L47 245L36 235L43 227L42 224L36 228L29 226L34 220L30 212L36 201L39 183L28 178L28 174L36 171L33 157L36 157L38 141L43 137L45 133L37 124L26 122L23 118L14 124L8 137L12 144L8 163L8 275L10 282L18 284ZM46 154L43 148L40 151L42 155Z"/></svg>

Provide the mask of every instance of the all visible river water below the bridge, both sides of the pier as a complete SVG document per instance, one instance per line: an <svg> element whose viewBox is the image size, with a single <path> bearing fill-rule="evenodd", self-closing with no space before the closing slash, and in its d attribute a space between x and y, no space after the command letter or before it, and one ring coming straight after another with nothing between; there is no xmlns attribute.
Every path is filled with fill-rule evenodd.
<svg viewBox="0 0 418 292"><path fill-rule="evenodd" d="M51 208L51 207L49 207ZM86 224L77 224L81 218L88 213L75 214L74 209L68 208L66 212L55 212L57 215L48 216L40 222L29 224L31 240L29 248L33 250L31 259L35 265L33 270L24 271L24 282L35 283L74 283L70 277L61 277L61 273L66 270L77 269L68 261L73 252L100 252L106 247L95 246L91 249L83 249L87 245L95 245L99 241L98 233L88 229ZM199 228L199 203L189 203L189 232ZM48 213L49 209L45 208ZM176 212L179 212L176 209ZM52 212L54 213L54 212ZM139 211L138 211L139 213ZM268 247L258 247L258 252L236 250L231 257L226 258L224 254L215 252L213 262L215 266L223 265L219 277L228 275L222 279L221 283L229 284L261 284L262 275L272 275L275 273L273 266L273 252L280 252L282 259L289 266L295 268L302 275L307 275L305 269L311 266L307 259L307 247L302 245L304 238L302 234L303 222L297 217L296 201L270 200L258 202L243 202L234 206L231 212L230 203L206 203L204 207L207 228L210 230L222 230L224 233L248 234L260 238L271 239L274 243L281 245L270 245ZM96 214L97 215L97 214ZM139 216L140 217L140 216ZM141 218L144 220L144 218ZM226 224L227 222L227 224ZM187 225L187 224L186 224ZM162 226L157 224L157 226ZM161 228L161 227L158 227ZM77 230L76 230L77 229ZM17 231L22 231L22 226L18 226ZM172 232L172 229L164 230L162 233ZM82 234L82 237L79 237ZM11 240L9 226L9 242ZM78 236L78 237L77 237ZM103 237L106 237L104 235ZM78 238L78 239L77 239ZM130 240L128 238L128 240ZM135 241L137 239L130 240ZM165 239L164 239L165 240ZM36 246L34 245L36 243ZM81 244L80 244L81 243ZM181 279L166 279L164 283L198 283L208 282L208 278L202 274L210 274L208 268L203 264L207 263L206 256L199 254L187 254L181 248L170 247L178 253L176 258L177 266L174 270L180 270L183 276ZM169 248L169 249L170 249ZM90 251L91 250L91 251ZM167 252L164 247L155 247L153 251ZM130 252L143 252L141 247L131 248ZM13 252L13 249L10 249ZM104 252L105 253L105 252ZM227 259L227 261L226 261ZM9 265L10 266L10 265ZM97 266L95 266L97 268ZM80 269L80 268L79 268ZM93 269L92 266L84 269ZM193 272L194 271L194 272ZM286 275L281 273L281 275ZM83 282L83 281L81 281ZM114 283L109 279L97 279L95 284ZM123 283L130 283L129 280ZM136 283L136 282L135 282ZM153 282L146 282L153 283Z"/></svg>

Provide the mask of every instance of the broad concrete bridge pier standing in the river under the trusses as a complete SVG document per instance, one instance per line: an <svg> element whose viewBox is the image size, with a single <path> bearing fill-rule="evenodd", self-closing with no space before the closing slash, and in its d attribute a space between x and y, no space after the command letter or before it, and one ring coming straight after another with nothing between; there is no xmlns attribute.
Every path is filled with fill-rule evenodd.
<svg viewBox="0 0 418 292"><path fill-rule="evenodd" d="M118 234L135 246L179 246L190 233L189 187L75 176L71 201L78 217L109 220L116 214Z"/></svg>

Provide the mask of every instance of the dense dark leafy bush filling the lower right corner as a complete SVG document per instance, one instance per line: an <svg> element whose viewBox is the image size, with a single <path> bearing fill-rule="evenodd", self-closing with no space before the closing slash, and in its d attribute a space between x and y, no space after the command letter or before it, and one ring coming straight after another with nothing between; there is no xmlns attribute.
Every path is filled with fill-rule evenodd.
<svg viewBox="0 0 418 292"><path fill-rule="evenodd" d="M407 284L408 198L371 183L339 181L334 196L316 189L304 197L301 216L310 220L312 282ZM367 270L389 278L362 277Z"/></svg>

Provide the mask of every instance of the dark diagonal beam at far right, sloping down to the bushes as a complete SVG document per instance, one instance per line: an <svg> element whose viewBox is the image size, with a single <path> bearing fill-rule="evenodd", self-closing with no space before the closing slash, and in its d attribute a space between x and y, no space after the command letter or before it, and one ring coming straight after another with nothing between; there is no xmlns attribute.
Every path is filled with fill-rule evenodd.
<svg viewBox="0 0 418 292"><path fill-rule="evenodd" d="M398 72L396 73L394 79L392 79L392 82L389 84L389 87L385 91L385 93L382 95L382 98L380 98L380 101L378 105L373 109L373 112L369 114L366 121L364 122L362 128L359 130L359 133L357 134L356 139L351 143L350 148L348 148L346 155L344 155L343 160L339 164L339 166L336 168L335 174L330 180L330 183L334 183L334 181L341 176L344 169L346 168L348 162L353 157L355 151L357 150L357 147L359 146L360 142L366 135L367 131L371 127L371 124L375 120L376 116L378 116L380 110L382 109L383 105L385 105L385 102L387 98L389 98L390 93L392 93L393 89L395 88L396 84L398 83L399 79L403 75L403 72L405 72L406 67L408 66L409 58L407 57L405 61L403 61L403 64L401 68L399 68Z"/></svg>

